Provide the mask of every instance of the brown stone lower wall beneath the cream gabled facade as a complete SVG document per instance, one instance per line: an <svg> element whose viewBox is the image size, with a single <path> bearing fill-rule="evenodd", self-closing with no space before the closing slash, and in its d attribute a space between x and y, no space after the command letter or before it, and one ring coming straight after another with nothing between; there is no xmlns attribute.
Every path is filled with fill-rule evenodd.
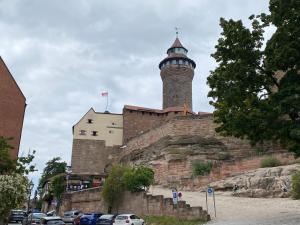
<svg viewBox="0 0 300 225"><path fill-rule="evenodd" d="M72 173L104 175L112 155L118 155L120 147L105 146L105 141L73 139Z"/></svg>

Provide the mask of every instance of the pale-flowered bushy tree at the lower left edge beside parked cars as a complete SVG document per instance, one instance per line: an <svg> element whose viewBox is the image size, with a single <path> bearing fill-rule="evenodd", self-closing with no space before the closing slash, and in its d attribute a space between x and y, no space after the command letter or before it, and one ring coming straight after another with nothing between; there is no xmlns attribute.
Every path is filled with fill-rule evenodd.
<svg viewBox="0 0 300 225"><path fill-rule="evenodd" d="M0 175L0 225L7 223L11 209L24 203L27 185L28 180L20 174Z"/></svg>

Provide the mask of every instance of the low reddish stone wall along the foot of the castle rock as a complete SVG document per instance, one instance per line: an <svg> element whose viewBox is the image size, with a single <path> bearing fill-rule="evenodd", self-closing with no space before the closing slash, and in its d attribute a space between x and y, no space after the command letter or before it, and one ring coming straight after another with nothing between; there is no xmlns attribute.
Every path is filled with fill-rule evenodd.
<svg viewBox="0 0 300 225"><path fill-rule="evenodd" d="M290 163L294 157L290 153L274 153L283 164ZM253 156L250 158L222 162L213 168L207 176L193 177L193 166L189 160L171 160L169 162L157 162L150 165L155 171L155 182L166 187L176 187L185 190L201 190L211 182L223 180L245 171L261 167L261 160L265 156Z"/></svg>

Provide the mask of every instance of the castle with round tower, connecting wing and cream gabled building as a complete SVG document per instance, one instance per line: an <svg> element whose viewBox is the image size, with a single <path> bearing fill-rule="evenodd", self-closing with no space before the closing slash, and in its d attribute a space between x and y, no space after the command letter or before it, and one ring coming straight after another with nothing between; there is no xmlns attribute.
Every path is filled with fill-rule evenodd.
<svg viewBox="0 0 300 225"><path fill-rule="evenodd" d="M196 64L178 37L159 63L163 82L163 109L124 105L122 114L90 109L73 126L72 173L105 175L112 155L132 138L179 115L193 115L192 81Z"/></svg>

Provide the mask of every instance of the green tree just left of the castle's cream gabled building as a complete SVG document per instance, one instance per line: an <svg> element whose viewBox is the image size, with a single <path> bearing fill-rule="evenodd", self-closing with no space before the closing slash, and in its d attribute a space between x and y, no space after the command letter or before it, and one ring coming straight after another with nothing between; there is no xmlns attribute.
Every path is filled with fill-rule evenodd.
<svg viewBox="0 0 300 225"><path fill-rule="evenodd" d="M49 160L46 163L46 167L43 170L41 179L39 181L39 189L42 188L44 183L51 177L54 177L55 175L65 173L67 169L67 163L61 161L60 157L55 157L51 160Z"/></svg>

